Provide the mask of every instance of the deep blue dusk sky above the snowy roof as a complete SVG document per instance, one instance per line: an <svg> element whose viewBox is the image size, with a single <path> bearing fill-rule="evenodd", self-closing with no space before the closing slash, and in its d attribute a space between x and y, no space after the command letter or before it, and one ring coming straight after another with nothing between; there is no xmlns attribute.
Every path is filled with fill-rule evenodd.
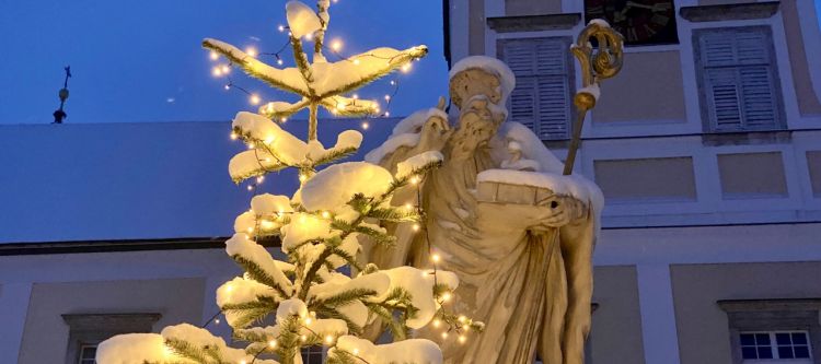
<svg viewBox="0 0 821 364"><path fill-rule="evenodd" d="M286 2L0 0L0 124L51 122L66 64L73 73L70 124L229 120L255 109L244 94L224 91L224 79L211 77L200 42L212 37L276 51L287 40L277 31L286 23ZM344 55L380 46L430 48L412 72L397 75L392 115L433 106L447 93L441 1L340 0L331 8L327 33L337 37ZM289 64L290 51L284 59ZM264 101L294 101L240 72L232 77ZM381 98L391 91L385 79L359 95Z"/></svg>

